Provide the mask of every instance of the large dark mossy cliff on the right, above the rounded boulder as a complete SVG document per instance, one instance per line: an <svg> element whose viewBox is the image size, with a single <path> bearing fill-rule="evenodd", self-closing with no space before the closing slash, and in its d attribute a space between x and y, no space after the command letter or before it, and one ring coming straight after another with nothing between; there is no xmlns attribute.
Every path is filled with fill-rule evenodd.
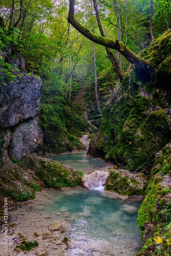
<svg viewBox="0 0 171 256"><path fill-rule="evenodd" d="M103 109L100 131L90 142L90 155L149 175L155 154L171 139L170 32L143 53L156 68L155 82L132 67L113 91Z"/></svg>

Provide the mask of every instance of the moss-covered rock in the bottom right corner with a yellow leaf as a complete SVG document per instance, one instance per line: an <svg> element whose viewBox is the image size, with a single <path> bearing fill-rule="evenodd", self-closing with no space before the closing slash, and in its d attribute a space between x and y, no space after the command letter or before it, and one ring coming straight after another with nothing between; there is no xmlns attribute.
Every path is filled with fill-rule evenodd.
<svg viewBox="0 0 171 256"><path fill-rule="evenodd" d="M137 255L170 255L171 244L171 145L156 154L145 199L138 210L144 245Z"/></svg>

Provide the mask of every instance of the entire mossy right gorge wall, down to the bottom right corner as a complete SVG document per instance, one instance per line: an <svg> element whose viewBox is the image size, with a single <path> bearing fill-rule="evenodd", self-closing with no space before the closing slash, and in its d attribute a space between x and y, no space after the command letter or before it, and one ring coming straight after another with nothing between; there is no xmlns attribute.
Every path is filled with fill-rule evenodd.
<svg viewBox="0 0 171 256"><path fill-rule="evenodd" d="M156 79L147 80L130 67L103 110L88 153L148 180L138 210L144 244L137 255L164 256L171 251L171 30L141 57L149 60ZM117 174L113 170L106 183L106 189L116 193Z"/></svg>

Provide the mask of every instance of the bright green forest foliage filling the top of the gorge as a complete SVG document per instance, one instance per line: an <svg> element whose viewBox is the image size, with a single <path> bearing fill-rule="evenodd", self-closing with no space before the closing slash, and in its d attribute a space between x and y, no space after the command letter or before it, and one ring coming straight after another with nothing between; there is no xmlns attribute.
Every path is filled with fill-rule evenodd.
<svg viewBox="0 0 171 256"><path fill-rule="evenodd" d="M50 80L51 90L64 93L73 102L82 91L81 97L87 108L93 109L97 97L103 106L102 98L113 90L118 79L122 80L130 62L142 69L149 67L143 54L141 58L137 54L151 44L150 22L154 39L170 28L170 1L74 2L70 1L69 22L73 24L78 20L84 34L91 37L95 34L94 41L101 40L100 44L107 50L98 44L94 46L81 35L82 32L73 29L68 23L69 1L65 0L2 0L0 47L3 51L10 46L8 58L24 56L27 73L34 72L46 81ZM71 4L75 4L74 19ZM109 39L102 39L104 36ZM104 44L104 41L108 43ZM15 69L12 63L11 66L7 64L8 58L1 59L1 68L9 80L15 80L17 78L11 73ZM21 69L23 72L26 71ZM3 81L4 77L0 79Z"/></svg>

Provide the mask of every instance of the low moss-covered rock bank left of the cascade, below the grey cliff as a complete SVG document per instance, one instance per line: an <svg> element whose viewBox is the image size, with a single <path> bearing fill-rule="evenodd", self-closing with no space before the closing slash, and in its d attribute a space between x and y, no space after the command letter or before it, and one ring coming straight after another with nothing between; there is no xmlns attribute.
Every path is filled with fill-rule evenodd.
<svg viewBox="0 0 171 256"><path fill-rule="evenodd" d="M81 183L82 172L56 161L28 154L23 161L6 162L0 169L0 194L14 201L35 198L35 191L51 186L62 188ZM16 163L17 162L17 163Z"/></svg>

